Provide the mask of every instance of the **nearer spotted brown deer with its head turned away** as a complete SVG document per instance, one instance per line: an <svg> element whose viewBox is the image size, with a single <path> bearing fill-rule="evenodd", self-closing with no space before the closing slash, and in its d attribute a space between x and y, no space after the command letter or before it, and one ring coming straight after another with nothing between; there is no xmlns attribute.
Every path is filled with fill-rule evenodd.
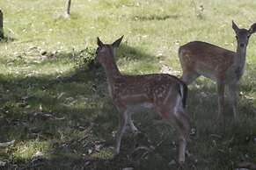
<svg viewBox="0 0 256 170"><path fill-rule="evenodd" d="M121 138L127 124L138 131L131 119L132 113L141 110L157 111L179 133L179 162L185 161L187 139L190 133L190 117L185 111L187 85L170 74L121 74L114 56L121 39L113 44L103 44L98 38L96 61L105 69L109 94L121 113L120 128L116 134L115 152L120 152Z"/></svg>

